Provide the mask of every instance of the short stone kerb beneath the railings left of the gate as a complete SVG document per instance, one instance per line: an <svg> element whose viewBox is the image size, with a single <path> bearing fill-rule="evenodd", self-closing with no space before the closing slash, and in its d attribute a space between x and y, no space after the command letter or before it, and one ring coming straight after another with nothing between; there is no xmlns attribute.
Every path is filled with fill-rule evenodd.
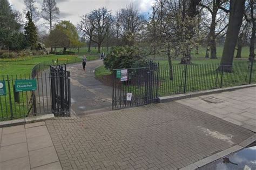
<svg viewBox="0 0 256 170"><path fill-rule="evenodd" d="M51 120L51 119L55 119L54 114L37 115L34 117L27 117L25 119L23 118L23 119L1 121L0 127L24 125L24 124L28 124L28 123L35 123L38 121L45 121L45 120Z"/></svg>

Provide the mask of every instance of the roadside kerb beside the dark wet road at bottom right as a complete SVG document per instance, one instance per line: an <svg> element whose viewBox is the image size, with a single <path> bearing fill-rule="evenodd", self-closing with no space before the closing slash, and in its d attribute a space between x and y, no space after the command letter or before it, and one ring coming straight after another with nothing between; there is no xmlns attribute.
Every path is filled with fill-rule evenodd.
<svg viewBox="0 0 256 170"><path fill-rule="evenodd" d="M242 141L240 144L232 146L230 148L225 149L224 151L215 153L213 155L211 155L210 157L204 158L202 160L199 160L197 162L194 162L193 164L190 164L188 166L185 166L183 168L180 168L180 170L192 170L192 169L197 169L200 167L203 167L207 164L210 164L211 162L221 159L223 157L226 157L227 155L230 155L234 152L237 152L241 149L243 149L244 147L252 144L252 142L256 141L256 134L252 135L250 138Z"/></svg>

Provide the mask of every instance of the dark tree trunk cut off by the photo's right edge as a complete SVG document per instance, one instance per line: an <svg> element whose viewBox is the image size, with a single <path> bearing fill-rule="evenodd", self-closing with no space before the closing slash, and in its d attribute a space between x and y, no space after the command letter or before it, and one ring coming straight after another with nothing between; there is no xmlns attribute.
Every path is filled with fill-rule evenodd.
<svg viewBox="0 0 256 170"><path fill-rule="evenodd" d="M250 6L251 6L251 18L252 18L252 36L251 36L251 39L250 39L250 56L249 56L249 60L250 62L253 62L254 61L254 57L255 57L255 54L254 54L254 43L255 43L255 18L254 18L254 2L253 0L250 1Z"/></svg>

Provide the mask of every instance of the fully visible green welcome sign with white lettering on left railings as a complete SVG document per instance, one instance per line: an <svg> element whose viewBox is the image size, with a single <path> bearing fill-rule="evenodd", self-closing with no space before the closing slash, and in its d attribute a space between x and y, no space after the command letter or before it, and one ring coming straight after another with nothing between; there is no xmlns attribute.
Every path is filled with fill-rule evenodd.
<svg viewBox="0 0 256 170"><path fill-rule="evenodd" d="M35 79L31 80L15 80L15 91L35 91L37 89L37 84Z"/></svg>

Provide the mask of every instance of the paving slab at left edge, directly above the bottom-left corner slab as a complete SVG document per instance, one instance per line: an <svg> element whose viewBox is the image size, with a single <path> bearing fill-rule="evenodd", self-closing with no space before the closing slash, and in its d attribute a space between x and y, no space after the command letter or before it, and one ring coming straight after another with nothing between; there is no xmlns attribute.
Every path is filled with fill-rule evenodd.
<svg viewBox="0 0 256 170"><path fill-rule="evenodd" d="M21 144L3 146L0 149L0 162L28 156L26 142Z"/></svg>

